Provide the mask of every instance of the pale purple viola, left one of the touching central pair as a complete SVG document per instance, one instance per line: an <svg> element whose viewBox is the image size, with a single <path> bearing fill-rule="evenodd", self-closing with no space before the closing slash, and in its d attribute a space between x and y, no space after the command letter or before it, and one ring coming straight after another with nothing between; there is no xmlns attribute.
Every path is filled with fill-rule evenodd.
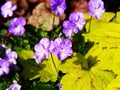
<svg viewBox="0 0 120 90"><path fill-rule="evenodd" d="M42 38L39 43L34 47L35 50L35 60L39 64L43 59L50 56L50 41L48 38Z"/></svg>

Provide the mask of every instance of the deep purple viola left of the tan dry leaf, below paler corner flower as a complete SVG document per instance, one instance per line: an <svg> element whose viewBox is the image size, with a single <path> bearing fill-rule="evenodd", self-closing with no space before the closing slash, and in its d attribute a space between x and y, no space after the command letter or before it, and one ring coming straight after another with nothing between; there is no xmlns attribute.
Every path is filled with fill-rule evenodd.
<svg viewBox="0 0 120 90"><path fill-rule="evenodd" d="M8 31L15 36L22 36L25 33L24 25L26 20L22 17L10 20Z"/></svg>

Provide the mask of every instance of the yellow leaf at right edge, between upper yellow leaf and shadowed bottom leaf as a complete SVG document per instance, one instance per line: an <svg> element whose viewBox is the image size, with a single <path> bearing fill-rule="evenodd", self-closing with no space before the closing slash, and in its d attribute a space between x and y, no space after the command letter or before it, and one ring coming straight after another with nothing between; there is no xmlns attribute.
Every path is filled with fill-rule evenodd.
<svg viewBox="0 0 120 90"><path fill-rule="evenodd" d="M97 67L102 70L112 70L116 74L120 74L120 48L119 47L103 47L103 44L95 44L87 53L85 58L89 56L96 57L99 62Z"/></svg>

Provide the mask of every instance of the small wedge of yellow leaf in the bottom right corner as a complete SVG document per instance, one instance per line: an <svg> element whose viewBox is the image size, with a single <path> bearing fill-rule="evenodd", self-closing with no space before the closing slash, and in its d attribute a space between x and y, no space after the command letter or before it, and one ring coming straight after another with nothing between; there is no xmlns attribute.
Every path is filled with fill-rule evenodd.
<svg viewBox="0 0 120 90"><path fill-rule="evenodd" d="M106 90L120 90L120 75L111 81Z"/></svg>

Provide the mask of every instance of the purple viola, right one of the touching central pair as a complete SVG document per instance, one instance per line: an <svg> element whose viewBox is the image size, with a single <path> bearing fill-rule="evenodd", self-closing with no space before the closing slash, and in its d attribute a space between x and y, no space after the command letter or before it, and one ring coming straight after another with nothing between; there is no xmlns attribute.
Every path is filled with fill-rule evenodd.
<svg viewBox="0 0 120 90"><path fill-rule="evenodd" d="M59 60L64 60L68 56L72 55L72 43L69 39L62 40L61 38L56 38L54 40L54 49L52 52L58 56Z"/></svg>

